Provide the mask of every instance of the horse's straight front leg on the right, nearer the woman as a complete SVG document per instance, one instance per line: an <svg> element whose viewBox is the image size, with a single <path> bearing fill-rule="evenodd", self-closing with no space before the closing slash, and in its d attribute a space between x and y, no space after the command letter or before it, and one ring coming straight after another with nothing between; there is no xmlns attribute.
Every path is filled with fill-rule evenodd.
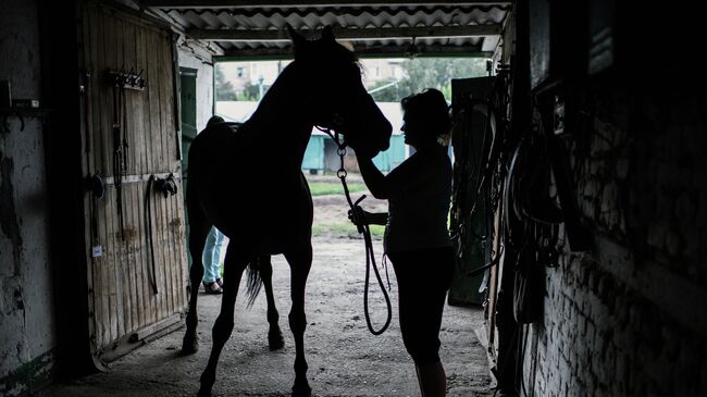
<svg viewBox="0 0 707 397"><path fill-rule="evenodd" d="M300 247L298 247L300 248ZM307 276L312 266L311 243L301 246L300 250L285 253L289 263L292 277L293 307L289 312L289 328L295 337L295 385L293 397L309 397L312 394L307 382L307 360L305 359L305 328L307 327L307 315L305 314L305 288Z"/></svg>

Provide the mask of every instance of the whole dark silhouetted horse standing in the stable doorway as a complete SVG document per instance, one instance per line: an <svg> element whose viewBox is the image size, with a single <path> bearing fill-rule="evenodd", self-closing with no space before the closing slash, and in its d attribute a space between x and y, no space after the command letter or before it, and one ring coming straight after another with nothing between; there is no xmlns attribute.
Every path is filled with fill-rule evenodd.
<svg viewBox="0 0 707 397"><path fill-rule="evenodd" d="M303 335L313 204L301 171L305 150L314 126L340 133L357 156L372 158L389 145L393 128L363 87L355 53L336 41L328 26L322 29L321 38L311 40L289 25L287 30L294 61L277 76L256 112L238 127L218 123L206 128L188 153L186 207L193 288L203 275L201 252L210 227L216 226L230 238L221 310L212 328L213 345L200 377L199 396L209 396L215 383L219 357L234 327L234 306L244 270L259 261L261 265L251 269L272 273L270 256L280 253L290 268L288 320L296 351L292 395L311 396ZM265 289L272 294L269 278L270 274L264 274ZM193 289L189 297L182 347L185 353L198 349L197 295ZM274 305L273 311L270 307L272 333L277 313Z"/></svg>

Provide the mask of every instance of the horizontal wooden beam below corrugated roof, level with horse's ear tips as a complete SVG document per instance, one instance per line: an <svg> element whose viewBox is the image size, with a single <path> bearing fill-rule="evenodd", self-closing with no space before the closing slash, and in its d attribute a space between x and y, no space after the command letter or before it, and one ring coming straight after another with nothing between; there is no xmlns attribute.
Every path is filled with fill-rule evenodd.
<svg viewBox="0 0 707 397"><path fill-rule="evenodd" d="M319 35L319 32L299 32L305 35ZM334 36L344 40L375 40L412 37L497 36L500 35L500 25L334 28ZM285 29L187 29L186 34L197 40L211 41L289 41Z"/></svg>

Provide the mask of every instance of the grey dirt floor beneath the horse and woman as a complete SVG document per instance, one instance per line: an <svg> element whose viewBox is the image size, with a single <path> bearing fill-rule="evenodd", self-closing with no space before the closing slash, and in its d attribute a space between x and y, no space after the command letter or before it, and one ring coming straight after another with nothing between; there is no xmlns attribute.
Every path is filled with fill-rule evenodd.
<svg viewBox="0 0 707 397"><path fill-rule="evenodd" d="M360 194L356 194L356 197ZM377 206L377 207L376 207ZM384 203L364 200L364 208L385 210ZM315 222L346 219L340 195L315 198ZM383 335L369 333L363 314L364 246L360 238L317 236L314 262L308 281L305 334L309 382L315 396L419 396L414 367L400 339L395 275L390 266L393 322ZM375 241L381 257L381 240ZM221 356L213 396L289 396L294 381L295 348L287 325L289 271L282 256L273 258L275 298L285 335L285 348L268 349L264 294L245 308L236 301L236 326ZM370 308L374 326L385 320L385 303L371 281ZM243 293L243 290L241 290ZM241 294L243 296L243 294ZM110 364L110 372L59 384L38 396L194 396L211 347L211 326L221 297L199 296L201 349L182 356L184 328L156 339ZM447 372L449 396L492 396L493 383L484 348L483 313L479 308L447 306L442 324L441 357ZM483 335L482 335L483 337Z"/></svg>

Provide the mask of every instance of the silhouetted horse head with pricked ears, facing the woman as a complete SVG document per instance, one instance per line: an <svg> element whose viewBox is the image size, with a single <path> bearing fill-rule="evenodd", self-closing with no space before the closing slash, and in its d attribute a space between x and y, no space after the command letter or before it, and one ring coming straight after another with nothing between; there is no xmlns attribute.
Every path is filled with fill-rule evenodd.
<svg viewBox="0 0 707 397"><path fill-rule="evenodd" d="M295 63L311 82L313 124L342 134L358 156L372 158L387 149L393 127L367 92L354 52L336 41L330 26L317 40L306 39L289 25L287 30Z"/></svg>

